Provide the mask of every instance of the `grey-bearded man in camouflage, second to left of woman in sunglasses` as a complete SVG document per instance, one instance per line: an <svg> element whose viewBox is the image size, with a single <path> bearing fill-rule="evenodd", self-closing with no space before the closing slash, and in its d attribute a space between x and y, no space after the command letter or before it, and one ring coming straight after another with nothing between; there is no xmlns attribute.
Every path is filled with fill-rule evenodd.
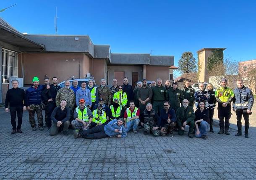
<svg viewBox="0 0 256 180"><path fill-rule="evenodd" d="M100 86L97 89L99 93L99 98L104 99L104 104L110 106L112 95L110 89L106 86L105 79L100 80Z"/></svg>

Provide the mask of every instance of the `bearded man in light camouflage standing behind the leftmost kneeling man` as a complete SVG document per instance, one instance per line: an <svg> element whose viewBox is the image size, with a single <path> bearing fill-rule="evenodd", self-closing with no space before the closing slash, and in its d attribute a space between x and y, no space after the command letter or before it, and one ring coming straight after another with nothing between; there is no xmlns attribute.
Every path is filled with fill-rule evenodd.
<svg viewBox="0 0 256 180"><path fill-rule="evenodd" d="M65 81L65 86L57 91L56 95L56 106L60 106L60 101L65 99L67 102L67 107L70 109L70 119L69 122L73 120L73 108L76 104L76 95L74 91L69 87L70 81ZM70 127L71 128L71 127Z"/></svg>

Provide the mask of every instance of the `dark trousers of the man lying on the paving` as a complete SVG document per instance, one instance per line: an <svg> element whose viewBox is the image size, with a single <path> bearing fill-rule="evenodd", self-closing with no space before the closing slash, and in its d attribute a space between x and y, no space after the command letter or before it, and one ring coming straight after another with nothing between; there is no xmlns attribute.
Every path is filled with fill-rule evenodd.
<svg viewBox="0 0 256 180"><path fill-rule="evenodd" d="M96 126L91 129L84 130L82 132L82 137L86 139L101 139L104 137L108 137L108 135L104 131L104 126Z"/></svg>

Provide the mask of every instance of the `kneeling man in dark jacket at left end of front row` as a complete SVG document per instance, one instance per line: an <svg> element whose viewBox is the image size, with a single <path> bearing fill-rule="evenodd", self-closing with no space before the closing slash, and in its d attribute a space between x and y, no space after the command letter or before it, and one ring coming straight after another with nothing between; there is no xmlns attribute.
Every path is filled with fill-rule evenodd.
<svg viewBox="0 0 256 180"><path fill-rule="evenodd" d="M50 128L50 135L54 136L58 133L60 127L63 127L63 134L68 135L70 109L66 107L67 101L62 99L60 106L55 107L51 114L52 126Z"/></svg>

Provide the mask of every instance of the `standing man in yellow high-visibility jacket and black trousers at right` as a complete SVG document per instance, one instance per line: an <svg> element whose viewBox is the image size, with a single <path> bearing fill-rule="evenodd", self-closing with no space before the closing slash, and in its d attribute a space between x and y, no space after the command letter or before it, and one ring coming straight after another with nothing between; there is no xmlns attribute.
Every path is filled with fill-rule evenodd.
<svg viewBox="0 0 256 180"><path fill-rule="evenodd" d="M234 92L231 88L227 87L227 79L222 78L221 87L215 91L215 97L218 102L218 118L219 118L219 134L230 135L229 119L231 117L231 102L234 98ZM225 127L224 127L225 118ZM224 130L225 129L225 130Z"/></svg>

